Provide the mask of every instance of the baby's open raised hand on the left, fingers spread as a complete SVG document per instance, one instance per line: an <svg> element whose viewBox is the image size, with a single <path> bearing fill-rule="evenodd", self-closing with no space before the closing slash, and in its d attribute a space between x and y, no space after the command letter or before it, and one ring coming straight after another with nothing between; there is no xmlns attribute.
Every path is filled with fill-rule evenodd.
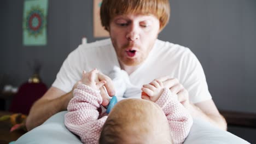
<svg viewBox="0 0 256 144"><path fill-rule="evenodd" d="M86 71L83 71L83 77L82 77L81 82L93 89L96 89L96 90L100 89L103 85L106 84L106 81L98 80L98 70L97 69L94 69L94 70L90 71L89 73L86 73Z"/></svg>

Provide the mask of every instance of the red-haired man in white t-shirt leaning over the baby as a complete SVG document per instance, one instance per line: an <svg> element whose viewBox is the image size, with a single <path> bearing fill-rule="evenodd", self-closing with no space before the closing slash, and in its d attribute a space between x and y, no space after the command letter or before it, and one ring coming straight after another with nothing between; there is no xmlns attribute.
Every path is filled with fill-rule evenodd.
<svg viewBox="0 0 256 144"><path fill-rule="evenodd" d="M98 79L106 80L108 94L114 95L113 83L104 74L118 65L130 76L133 89L127 91L141 92L144 84L158 79L178 95L193 117L206 119L225 130L225 119L208 92L205 74L195 55L188 48L157 39L169 16L168 0L103 0L101 21L110 39L80 45L69 54L53 86L32 106L27 129L37 127L50 116L67 109L73 97L72 87L81 79L83 70L101 70L103 74L98 74ZM102 105L108 105L103 89L101 94ZM140 97L138 94L134 96Z"/></svg>

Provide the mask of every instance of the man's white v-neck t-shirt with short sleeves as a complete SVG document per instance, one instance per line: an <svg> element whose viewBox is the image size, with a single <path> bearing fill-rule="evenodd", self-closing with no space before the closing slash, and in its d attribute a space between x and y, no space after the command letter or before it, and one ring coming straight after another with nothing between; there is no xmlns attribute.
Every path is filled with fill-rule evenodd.
<svg viewBox="0 0 256 144"><path fill-rule="evenodd" d="M109 74L113 67L120 67L110 39L79 45L62 64L53 87L69 92L82 78L83 70L94 68ZM141 87L162 76L177 78L189 92L189 100L199 103L211 99L202 66L187 47L156 40L152 51L138 69L129 75L133 85L126 92L141 97Z"/></svg>

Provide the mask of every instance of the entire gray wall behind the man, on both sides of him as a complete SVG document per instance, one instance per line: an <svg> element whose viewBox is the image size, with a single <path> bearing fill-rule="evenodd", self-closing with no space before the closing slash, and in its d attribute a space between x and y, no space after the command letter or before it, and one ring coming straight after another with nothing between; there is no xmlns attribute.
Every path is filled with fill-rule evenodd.
<svg viewBox="0 0 256 144"><path fill-rule="evenodd" d="M170 0L171 19L159 39L189 47L199 58L219 109L256 112L256 1ZM2 81L21 85L31 76L27 63L39 59L50 87L63 60L81 38L92 35L92 1L49 1L48 44L22 45L24 1L0 1ZM1 78L3 79L3 78Z"/></svg>

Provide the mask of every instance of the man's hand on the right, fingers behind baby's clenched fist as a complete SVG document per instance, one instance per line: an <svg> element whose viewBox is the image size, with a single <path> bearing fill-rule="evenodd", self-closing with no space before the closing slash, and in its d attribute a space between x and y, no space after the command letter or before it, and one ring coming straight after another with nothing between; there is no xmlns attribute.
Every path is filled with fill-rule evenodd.
<svg viewBox="0 0 256 144"><path fill-rule="evenodd" d="M188 107L190 104L188 91L181 83L179 83L178 79L172 79L170 76L164 76L156 80L161 81L164 87L169 88L173 94L177 94L179 102L184 107Z"/></svg>

